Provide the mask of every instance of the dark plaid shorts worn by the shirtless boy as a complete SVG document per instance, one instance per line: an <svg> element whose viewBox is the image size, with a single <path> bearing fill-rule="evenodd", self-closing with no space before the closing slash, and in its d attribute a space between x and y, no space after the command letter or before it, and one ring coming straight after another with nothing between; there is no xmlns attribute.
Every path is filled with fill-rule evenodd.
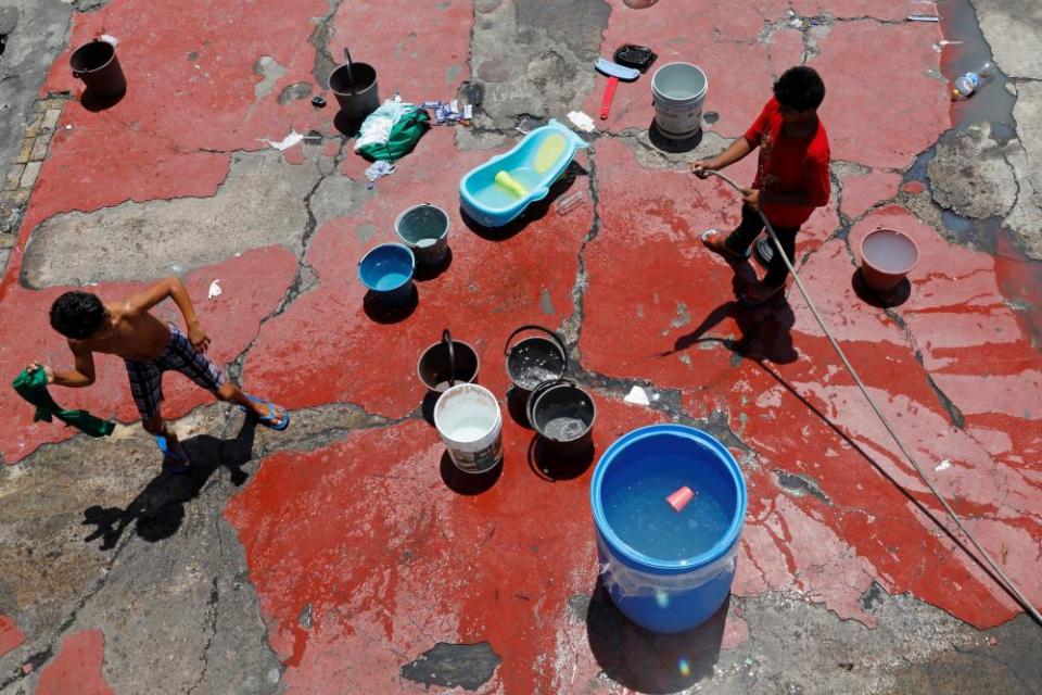
<svg viewBox="0 0 1042 695"><path fill-rule="evenodd" d="M144 419L160 413L164 371L180 371L212 393L225 382L225 375L220 369L205 355L196 352L185 333L174 324L170 324L170 342L166 343L158 359L152 362L125 359L124 362L127 365L127 376L130 377L130 393L134 394L134 402Z"/></svg>

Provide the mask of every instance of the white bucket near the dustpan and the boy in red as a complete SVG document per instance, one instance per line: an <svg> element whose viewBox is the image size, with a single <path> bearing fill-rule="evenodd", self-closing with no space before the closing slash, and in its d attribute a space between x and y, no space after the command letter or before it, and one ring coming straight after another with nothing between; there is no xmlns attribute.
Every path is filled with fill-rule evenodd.
<svg viewBox="0 0 1042 695"><path fill-rule="evenodd" d="M690 63L666 63L651 76L655 126L662 137L687 140L702 129L706 73Z"/></svg>

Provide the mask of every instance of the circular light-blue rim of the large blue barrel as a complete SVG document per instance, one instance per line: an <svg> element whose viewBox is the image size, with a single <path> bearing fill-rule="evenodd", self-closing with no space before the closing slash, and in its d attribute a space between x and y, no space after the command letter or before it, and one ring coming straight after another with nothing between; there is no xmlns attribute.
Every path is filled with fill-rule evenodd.
<svg viewBox="0 0 1042 695"><path fill-rule="evenodd" d="M663 560L655 558L650 555L645 555L644 553L623 542L623 540L615 534L614 530L611 528L611 525L608 523L608 519L605 515L605 508L601 504L601 485L605 480L606 471L611 465L611 462L631 444L649 437L660 437L662 434L683 437L685 439L694 440L700 445L707 446L716 455L717 460L724 465L724 468L727 470L727 472L730 473L732 480L735 482L735 489L737 490L737 508L734 511L734 516L732 517L730 525L727 527L727 531L711 548L704 553L678 560ZM727 447L724 446L715 437L709 432L703 432L702 430L688 425L660 424L648 425L645 427L639 427L635 430L631 430L612 442L611 446L609 446L608 450L601 455L600 460L597 462L597 467L594 470L594 478L589 484L589 502L590 506L593 507L594 523L597 527L597 532L600 533L605 542L621 559L628 560L637 566L644 566L659 573L681 573L704 567L710 563L720 559L732 548L732 546L735 545L735 543L738 542L738 536L741 534L741 527L745 522L746 505L748 500L746 494L746 481L741 476L741 469L738 467L738 462L735 460L735 457L730 454Z"/></svg>

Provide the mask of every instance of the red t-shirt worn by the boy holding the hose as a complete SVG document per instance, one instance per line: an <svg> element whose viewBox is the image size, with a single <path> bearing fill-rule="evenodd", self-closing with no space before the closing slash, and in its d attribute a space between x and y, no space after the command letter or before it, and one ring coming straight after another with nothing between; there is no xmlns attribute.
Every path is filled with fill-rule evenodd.
<svg viewBox="0 0 1042 695"><path fill-rule="evenodd" d="M749 147L760 148L760 164L752 187L772 193L806 193L810 205L764 204L763 212L779 227L799 227L815 207L828 203L828 135L818 122L814 135L793 138L783 130L778 100L774 97L746 132Z"/></svg>

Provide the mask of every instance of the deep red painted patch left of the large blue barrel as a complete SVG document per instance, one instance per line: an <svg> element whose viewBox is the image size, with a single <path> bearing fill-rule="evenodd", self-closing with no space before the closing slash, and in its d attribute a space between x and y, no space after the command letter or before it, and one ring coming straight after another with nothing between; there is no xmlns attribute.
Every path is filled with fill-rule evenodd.
<svg viewBox="0 0 1042 695"><path fill-rule="evenodd" d="M661 421L648 408L596 401L598 451ZM336 682L391 692L409 684L398 668L435 642L487 640L504 657L497 690L560 692L549 685L561 659L573 658L557 637L568 629L567 602L597 579L590 469L545 480L529 467L532 431L505 405L504 418L503 473L478 496L446 485L441 470L452 464L442 463L436 431L409 420L272 456L231 501L226 516L246 548L291 690ZM308 605L313 624L304 629L298 616ZM588 647L574 658L589 661Z"/></svg>

